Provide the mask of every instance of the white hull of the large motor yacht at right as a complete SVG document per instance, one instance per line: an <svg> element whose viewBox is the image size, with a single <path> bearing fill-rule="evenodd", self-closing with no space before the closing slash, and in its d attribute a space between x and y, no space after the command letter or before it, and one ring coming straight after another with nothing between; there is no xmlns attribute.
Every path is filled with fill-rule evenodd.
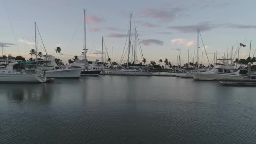
<svg viewBox="0 0 256 144"><path fill-rule="evenodd" d="M192 73L194 80L245 80L246 76L237 76L232 74L219 74L219 73Z"/></svg>

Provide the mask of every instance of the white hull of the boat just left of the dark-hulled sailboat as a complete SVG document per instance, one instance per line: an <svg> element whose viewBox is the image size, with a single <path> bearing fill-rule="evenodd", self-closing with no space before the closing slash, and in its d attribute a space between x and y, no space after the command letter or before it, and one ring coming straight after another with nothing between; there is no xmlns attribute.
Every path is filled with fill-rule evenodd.
<svg viewBox="0 0 256 144"><path fill-rule="evenodd" d="M78 78L82 69L54 69L45 71L47 78Z"/></svg>

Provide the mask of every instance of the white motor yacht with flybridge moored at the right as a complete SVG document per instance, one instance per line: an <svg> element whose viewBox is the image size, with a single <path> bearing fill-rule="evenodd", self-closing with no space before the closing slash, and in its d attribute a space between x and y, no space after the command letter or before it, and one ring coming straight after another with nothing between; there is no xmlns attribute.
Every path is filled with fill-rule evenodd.
<svg viewBox="0 0 256 144"><path fill-rule="evenodd" d="M248 79L246 71L235 69L235 66L229 64L216 65L208 72L191 73L194 80L245 80Z"/></svg>

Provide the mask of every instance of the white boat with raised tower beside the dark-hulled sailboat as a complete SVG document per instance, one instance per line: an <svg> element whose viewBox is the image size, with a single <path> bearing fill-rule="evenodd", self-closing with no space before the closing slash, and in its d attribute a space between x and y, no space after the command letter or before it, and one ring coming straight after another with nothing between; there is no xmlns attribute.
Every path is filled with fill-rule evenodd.
<svg viewBox="0 0 256 144"><path fill-rule="evenodd" d="M74 68L61 68L56 64L55 58L52 55L45 56L47 60L42 62L48 62L53 65L53 69L45 71L45 77L47 78L79 78L82 69Z"/></svg>

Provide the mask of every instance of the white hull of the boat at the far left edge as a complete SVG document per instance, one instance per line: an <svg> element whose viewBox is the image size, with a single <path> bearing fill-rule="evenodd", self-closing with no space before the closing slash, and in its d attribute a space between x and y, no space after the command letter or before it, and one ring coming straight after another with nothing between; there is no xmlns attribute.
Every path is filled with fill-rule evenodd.
<svg viewBox="0 0 256 144"><path fill-rule="evenodd" d="M37 75L30 74L0 74L0 83L43 83L46 79L39 80Z"/></svg>

